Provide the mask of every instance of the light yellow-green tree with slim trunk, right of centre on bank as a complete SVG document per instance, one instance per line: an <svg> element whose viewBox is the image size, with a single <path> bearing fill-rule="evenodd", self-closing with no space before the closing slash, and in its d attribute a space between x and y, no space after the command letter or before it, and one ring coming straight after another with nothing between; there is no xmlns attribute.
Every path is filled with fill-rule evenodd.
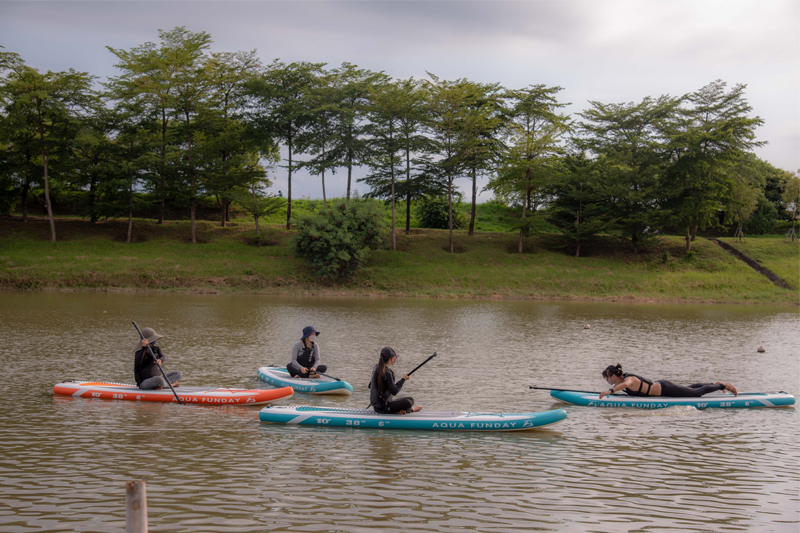
<svg viewBox="0 0 800 533"><path fill-rule="evenodd" d="M534 207L532 197L548 190L562 152L562 136L570 128L569 118L559 113L569 105L558 103L556 95L561 90L561 87L531 85L505 94L511 102L506 149L497 176L489 181L487 188L505 197L519 198L522 203L519 253L523 251L523 236L530 225L526 216Z"/></svg>

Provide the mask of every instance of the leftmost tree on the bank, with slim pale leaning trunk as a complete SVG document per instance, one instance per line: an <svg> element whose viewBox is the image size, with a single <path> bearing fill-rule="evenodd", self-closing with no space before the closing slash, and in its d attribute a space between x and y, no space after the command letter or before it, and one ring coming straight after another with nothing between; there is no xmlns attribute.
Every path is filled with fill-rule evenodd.
<svg viewBox="0 0 800 533"><path fill-rule="evenodd" d="M0 86L4 114L15 128L25 128L32 146L41 154L44 197L50 222L50 240L56 241L53 207L50 201L50 158L71 149L82 115L92 108L93 76L73 69L62 72L38 70L25 65L16 55L4 53L8 72ZM34 140L35 139L35 140Z"/></svg>

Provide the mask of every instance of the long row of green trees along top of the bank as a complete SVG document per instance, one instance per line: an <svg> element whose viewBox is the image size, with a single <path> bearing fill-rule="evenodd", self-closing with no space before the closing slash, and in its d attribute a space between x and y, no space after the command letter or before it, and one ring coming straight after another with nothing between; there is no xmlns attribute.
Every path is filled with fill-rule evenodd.
<svg viewBox="0 0 800 533"><path fill-rule="evenodd" d="M687 95L640 102L590 101L563 112L561 87L506 89L467 79L393 79L350 63L275 60L256 51L212 52L211 36L183 27L129 50L107 47L117 75L102 83L72 69L41 73L0 51L0 207L43 188L51 239L51 188L86 191L85 216L133 216L154 200L158 222L186 206L196 242L198 202L213 199L221 224L232 203L259 215L286 209L292 175L307 169L328 183L353 169L367 196L412 202L446 196L454 251L456 180L471 185L475 227L478 178L520 211L519 252L536 217L547 217L580 254L615 234L636 250L657 231L685 234L731 226L741 233L758 209L794 209L798 177L758 159L763 144L745 86L717 80ZM282 152L283 150L283 152ZM286 157L281 157L285 153ZM285 169L287 196L266 193L268 170ZM795 195L796 196L796 195Z"/></svg>

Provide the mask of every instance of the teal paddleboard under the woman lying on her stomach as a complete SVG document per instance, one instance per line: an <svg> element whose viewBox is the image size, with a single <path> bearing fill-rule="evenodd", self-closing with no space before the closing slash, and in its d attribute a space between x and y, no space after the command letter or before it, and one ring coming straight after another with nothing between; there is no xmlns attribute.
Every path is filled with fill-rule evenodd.
<svg viewBox="0 0 800 533"><path fill-rule="evenodd" d="M697 409L709 407L720 408L752 408L752 407L783 407L794 405L794 396L785 392L740 392L739 396L715 392L700 398L671 398L668 396L628 396L626 394L612 394L604 396L601 400L600 393L585 393L571 391L550 391L550 396L562 402L589 407L638 407L640 409L664 409L674 405L692 405Z"/></svg>

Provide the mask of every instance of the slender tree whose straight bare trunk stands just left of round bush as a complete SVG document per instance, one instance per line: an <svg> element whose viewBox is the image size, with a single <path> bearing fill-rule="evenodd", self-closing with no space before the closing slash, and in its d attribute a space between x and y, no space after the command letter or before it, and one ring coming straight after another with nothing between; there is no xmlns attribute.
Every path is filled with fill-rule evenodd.
<svg viewBox="0 0 800 533"><path fill-rule="evenodd" d="M308 126L306 91L324 63L291 63L275 60L258 79L248 84L252 98L251 121L264 135L286 145L289 179L286 194L286 229L292 219L292 156L297 137Z"/></svg>

